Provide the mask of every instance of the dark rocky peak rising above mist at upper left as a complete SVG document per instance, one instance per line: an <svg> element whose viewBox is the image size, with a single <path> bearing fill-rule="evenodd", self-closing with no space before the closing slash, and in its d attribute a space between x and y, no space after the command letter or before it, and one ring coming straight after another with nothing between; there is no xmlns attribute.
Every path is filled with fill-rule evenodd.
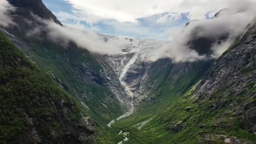
<svg viewBox="0 0 256 144"><path fill-rule="evenodd" d="M26 39L24 35L34 31L33 28L44 27L43 20L50 20L62 26L56 16L45 7L42 0L9 0L8 2L15 7L15 10L11 11L10 15L16 25L11 25L6 30L22 40ZM41 38L46 38L45 32L41 34Z"/></svg>

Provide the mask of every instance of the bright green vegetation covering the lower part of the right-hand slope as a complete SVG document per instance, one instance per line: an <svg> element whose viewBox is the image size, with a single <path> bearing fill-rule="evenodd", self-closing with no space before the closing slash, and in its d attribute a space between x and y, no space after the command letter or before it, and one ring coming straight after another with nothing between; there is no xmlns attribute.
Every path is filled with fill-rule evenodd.
<svg viewBox="0 0 256 144"><path fill-rule="evenodd" d="M209 139L212 139L214 143L223 143L225 137L228 136L256 142L254 134L240 127L242 117L228 113L236 107L225 106L219 109L212 106L212 104L220 101L214 95L219 95L222 92L212 94L211 99L206 98L196 102L198 98L194 97L193 89L191 88L182 98L169 106L166 111L160 113L141 130L131 127L125 128L131 132L132 137L129 143L136 143L137 140L145 143L197 143L198 141L206 143L209 142ZM251 94L255 94L256 89L254 88L253 91ZM239 101L238 103L250 101L248 97L229 95L225 105L230 105L234 100ZM192 107L192 109L186 111L187 107ZM180 124L177 124L179 122Z"/></svg>

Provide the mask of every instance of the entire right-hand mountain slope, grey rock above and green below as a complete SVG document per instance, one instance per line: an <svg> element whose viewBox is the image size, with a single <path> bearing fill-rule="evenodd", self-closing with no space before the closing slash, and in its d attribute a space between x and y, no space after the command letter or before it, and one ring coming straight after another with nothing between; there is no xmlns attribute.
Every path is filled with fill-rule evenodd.
<svg viewBox="0 0 256 144"><path fill-rule="evenodd" d="M255 143L256 24L126 143Z"/></svg>

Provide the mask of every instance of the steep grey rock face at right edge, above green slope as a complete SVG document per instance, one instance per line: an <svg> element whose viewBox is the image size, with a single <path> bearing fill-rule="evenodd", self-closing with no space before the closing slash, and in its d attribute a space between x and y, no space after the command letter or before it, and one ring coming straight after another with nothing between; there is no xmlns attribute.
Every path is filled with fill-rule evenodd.
<svg viewBox="0 0 256 144"><path fill-rule="evenodd" d="M243 128L251 133L255 132L255 60L256 60L256 25L252 26L243 36L241 42L226 51L204 76L199 84L199 99L211 98L220 100L214 105L223 109L227 103L231 107L232 115L243 117ZM254 90L253 90L254 89ZM232 101L229 97L237 98ZM243 95L243 96L242 96ZM247 97L242 99L240 97ZM251 99L251 100L250 100Z"/></svg>

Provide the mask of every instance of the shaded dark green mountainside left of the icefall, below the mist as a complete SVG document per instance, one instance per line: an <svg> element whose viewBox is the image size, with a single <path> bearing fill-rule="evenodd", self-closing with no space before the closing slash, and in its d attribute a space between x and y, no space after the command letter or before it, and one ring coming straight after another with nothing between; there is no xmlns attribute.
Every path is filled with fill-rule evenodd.
<svg viewBox="0 0 256 144"><path fill-rule="evenodd" d="M100 59L74 44L66 48L46 39L25 39L30 45L30 58L44 71L55 76L65 90L84 104L88 115L102 127L123 113L114 94L103 86ZM24 50L26 51L26 50Z"/></svg>

